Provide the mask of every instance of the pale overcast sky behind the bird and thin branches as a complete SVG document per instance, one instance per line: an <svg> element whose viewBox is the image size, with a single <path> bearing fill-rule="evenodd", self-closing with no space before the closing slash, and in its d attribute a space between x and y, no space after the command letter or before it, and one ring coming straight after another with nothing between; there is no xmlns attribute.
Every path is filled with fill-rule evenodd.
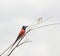
<svg viewBox="0 0 60 56"><path fill-rule="evenodd" d="M46 24L60 23L60 0L0 0L0 53L14 42L23 25L39 17L53 17ZM26 37L32 42L11 56L60 56L60 25L31 31Z"/></svg>

